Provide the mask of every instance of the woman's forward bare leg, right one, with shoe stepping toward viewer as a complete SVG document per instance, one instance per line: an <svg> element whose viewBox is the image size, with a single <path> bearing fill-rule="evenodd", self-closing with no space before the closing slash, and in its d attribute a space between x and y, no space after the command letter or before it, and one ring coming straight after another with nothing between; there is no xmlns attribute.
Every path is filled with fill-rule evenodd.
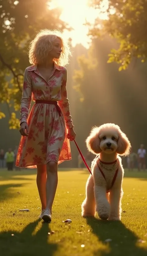
<svg viewBox="0 0 147 256"><path fill-rule="evenodd" d="M47 183L46 183L46 196L47 205L46 209L52 210L52 204L55 198L56 189L58 184L58 164L54 161L47 163Z"/></svg>

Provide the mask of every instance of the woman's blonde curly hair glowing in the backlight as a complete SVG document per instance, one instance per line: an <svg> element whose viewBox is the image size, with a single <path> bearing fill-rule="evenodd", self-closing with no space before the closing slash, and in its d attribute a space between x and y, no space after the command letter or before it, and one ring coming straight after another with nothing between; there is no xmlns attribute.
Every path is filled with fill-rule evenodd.
<svg viewBox="0 0 147 256"><path fill-rule="evenodd" d="M30 42L29 45L29 62L30 64L38 64L43 62L48 55L48 52L52 50L52 41L56 38L61 40L62 52L59 59L54 58L53 61L57 65L65 66L69 63L69 55L71 51L69 42L63 40L62 32L59 30L43 29L39 31L36 37Z"/></svg>

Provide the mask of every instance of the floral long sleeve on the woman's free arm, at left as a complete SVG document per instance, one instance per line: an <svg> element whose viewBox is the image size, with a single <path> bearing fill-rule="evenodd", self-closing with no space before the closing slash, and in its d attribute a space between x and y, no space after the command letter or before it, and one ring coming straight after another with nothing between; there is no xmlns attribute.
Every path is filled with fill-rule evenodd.
<svg viewBox="0 0 147 256"><path fill-rule="evenodd" d="M20 105L20 124L22 122L27 122L29 115L29 109L31 106L31 96L32 96L32 82L27 69L24 72L24 82L23 82L23 94L21 98Z"/></svg>

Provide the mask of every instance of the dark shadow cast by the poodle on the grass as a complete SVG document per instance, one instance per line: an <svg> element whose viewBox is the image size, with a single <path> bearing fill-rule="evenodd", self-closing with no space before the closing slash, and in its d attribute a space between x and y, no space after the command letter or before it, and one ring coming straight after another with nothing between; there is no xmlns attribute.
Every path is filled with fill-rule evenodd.
<svg viewBox="0 0 147 256"><path fill-rule="evenodd" d="M106 239L112 239L109 242L109 253L96 251L94 255L109 256L146 256L147 250L138 247L136 244L138 237L131 230L127 229L119 221L103 221L96 218L87 218L87 224L91 226L92 232L98 237L99 241L105 243Z"/></svg>

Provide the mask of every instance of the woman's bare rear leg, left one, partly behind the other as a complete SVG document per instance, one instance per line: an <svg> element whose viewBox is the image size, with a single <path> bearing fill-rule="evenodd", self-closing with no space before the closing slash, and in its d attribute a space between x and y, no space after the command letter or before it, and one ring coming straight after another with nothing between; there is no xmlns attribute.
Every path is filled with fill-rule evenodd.
<svg viewBox="0 0 147 256"><path fill-rule="evenodd" d="M37 187L39 192L39 197L42 204L42 210L46 209L46 182L47 182L47 166L37 165Z"/></svg>

